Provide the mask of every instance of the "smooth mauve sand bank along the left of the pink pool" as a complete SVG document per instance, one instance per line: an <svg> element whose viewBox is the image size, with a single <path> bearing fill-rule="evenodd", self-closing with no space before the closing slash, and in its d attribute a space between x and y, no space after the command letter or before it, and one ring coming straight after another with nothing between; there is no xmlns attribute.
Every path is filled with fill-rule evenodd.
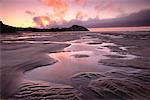
<svg viewBox="0 0 150 100"><path fill-rule="evenodd" d="M63 35L60 35L63 36ZM54 40L58 36L54 36ZM61 41L73 40L78 37L68 36ZM39 39L38 39L39 40ZM59 40L59 39L57 39ZM5 40L3 40L5 41ZM1 57L2 68L1 68L1 91L2 98L7 98L14 91L18 89L18 86L23 81L23 74L26 71L30 71L37 67L51 65L57 61L48 56L50 52L60 52L63 48L69 46L66 43L48 43L48 44L32 44L32 43L2 43L1 45ZM12 56L13 55L13 56ZM9 62L8 62L9 61ZM7 84L11 83L8 87ZM17 83L17 84L16 84ZM4 88L3 88L4 87ZM7 87L7 89L5 89Z"/></svg>

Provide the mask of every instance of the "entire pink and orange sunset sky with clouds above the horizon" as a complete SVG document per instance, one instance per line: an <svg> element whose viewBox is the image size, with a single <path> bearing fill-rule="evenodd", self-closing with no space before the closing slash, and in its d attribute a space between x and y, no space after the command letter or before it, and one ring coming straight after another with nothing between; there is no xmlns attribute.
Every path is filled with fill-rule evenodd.
<svg viewBox="0 0 150 100"><path fill-rule="evenodd" d="M0 0L0 20L16 27L150 26L150 0Z"/></svg>

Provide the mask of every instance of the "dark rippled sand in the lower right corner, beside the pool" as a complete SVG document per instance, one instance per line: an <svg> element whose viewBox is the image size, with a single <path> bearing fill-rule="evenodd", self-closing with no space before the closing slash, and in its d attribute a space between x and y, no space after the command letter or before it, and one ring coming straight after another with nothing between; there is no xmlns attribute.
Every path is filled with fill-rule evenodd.
<svg viewBox="0 0 150 100"><path fill-rule="evenodd" d="M106 73L86 72L72 77L83 99L150 99L150 71ZM89 96L90 94L90 96Z"/></svg>

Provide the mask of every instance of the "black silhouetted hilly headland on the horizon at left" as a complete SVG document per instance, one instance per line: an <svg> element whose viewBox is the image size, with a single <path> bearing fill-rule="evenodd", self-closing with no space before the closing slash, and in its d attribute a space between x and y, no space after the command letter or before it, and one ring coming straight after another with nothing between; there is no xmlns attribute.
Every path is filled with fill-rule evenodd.
<svg viewBox="0 0 150 100"><path fill-rule="evenodd" d="M21 28L21 27L13 27L9 25L3 24L0 21L1 33L17 33L17 32L63 32L63 31L89 31L87 28L79 25L73 25L69 28L51 28L51 29L38 29L38 28Z"/></svg>

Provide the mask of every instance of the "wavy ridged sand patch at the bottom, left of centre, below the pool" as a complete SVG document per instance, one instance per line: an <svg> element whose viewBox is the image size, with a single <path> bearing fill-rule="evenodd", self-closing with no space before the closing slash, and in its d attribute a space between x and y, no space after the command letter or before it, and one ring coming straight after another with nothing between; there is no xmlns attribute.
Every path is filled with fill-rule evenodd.
<svg viewBox="0 0 150 100"><path fill-rule="evenodd" d="M13 99L23 100L80 100L82 94L69 85L27 81Z"/></svg>

